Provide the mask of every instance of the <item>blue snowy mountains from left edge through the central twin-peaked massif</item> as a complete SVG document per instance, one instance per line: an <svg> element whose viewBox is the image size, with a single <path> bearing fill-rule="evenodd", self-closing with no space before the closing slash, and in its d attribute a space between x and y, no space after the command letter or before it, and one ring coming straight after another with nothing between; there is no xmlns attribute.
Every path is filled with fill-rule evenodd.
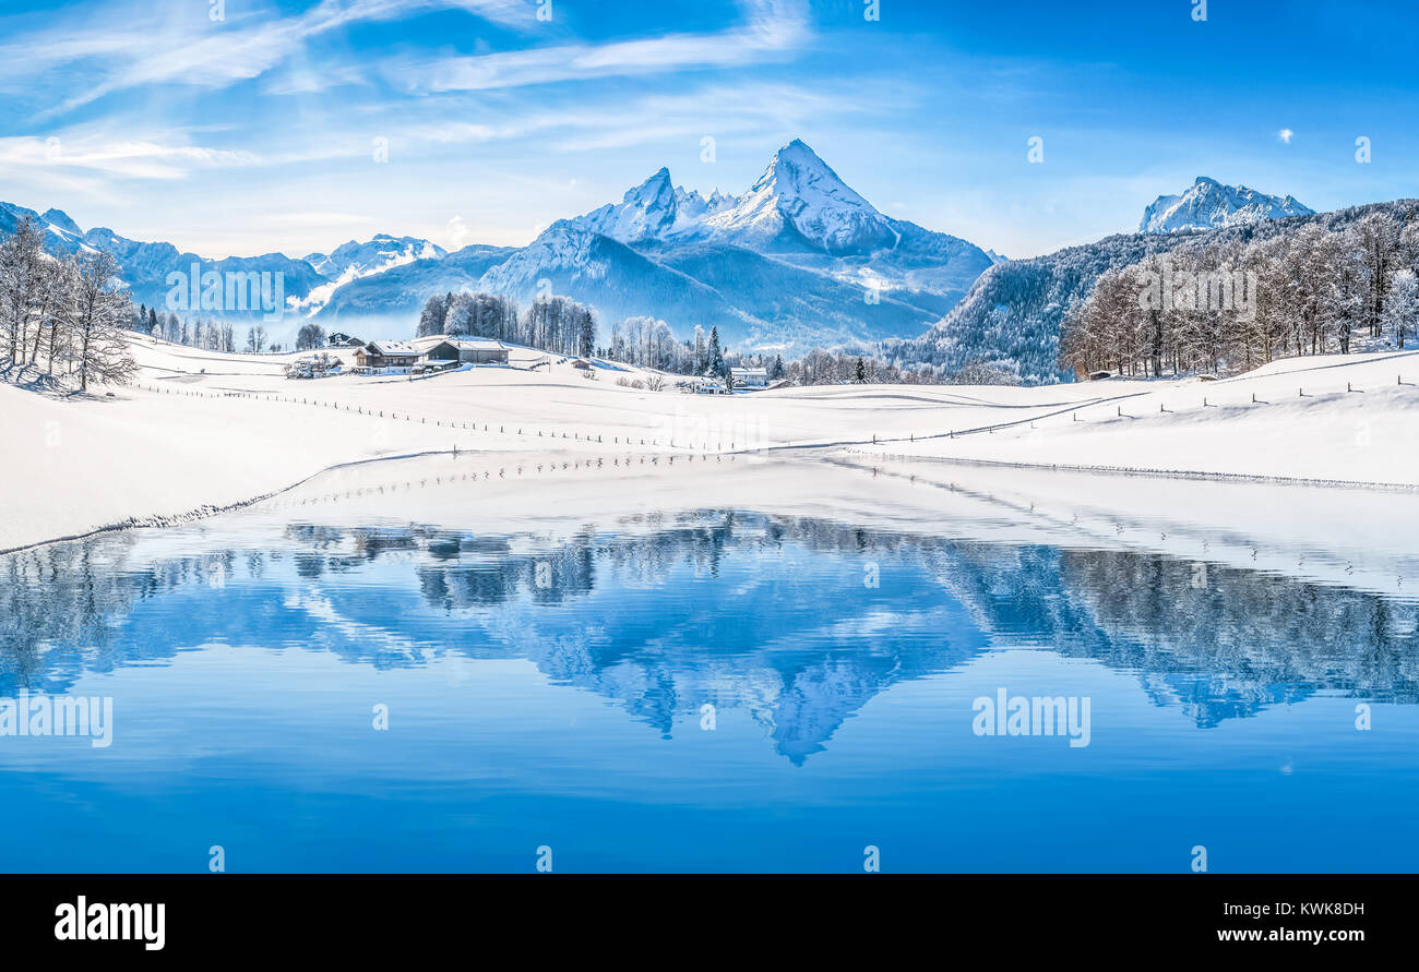
<svg viewBox="0 0 1419 972"><path fill-rule="evenodd" d="M427 240L380 234L305 260L213 261L109 230L81 233L58 210L38 217L0 207L0 230L23 214L44 224L55 253L112 250L133 299L158 306L166 275L193 263L203 272L280 270L294 312L268 324L272 339L294 336L309 318L331 331L402 336L433 294L481 289L525 305L549 284L592 305L606 332L626 316L648 315L681 335L714 324L745 349L792 353L920 335L993 263L965 240L884 216L797 139L742 196L718 189L705 196L660 169L620 201L558 220L521 248L446 253Z"/></svg>

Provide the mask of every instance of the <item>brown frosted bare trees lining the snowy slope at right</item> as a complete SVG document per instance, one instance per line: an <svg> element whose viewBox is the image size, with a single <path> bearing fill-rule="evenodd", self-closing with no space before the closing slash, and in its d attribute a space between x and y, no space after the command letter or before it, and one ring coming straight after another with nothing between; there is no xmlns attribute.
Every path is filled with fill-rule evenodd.
<svg viewBox="0 0 1419 972"><path fill-rule="evenodd" d="M1403 348L1419 326L1419 220L1374 211L1242 241L1202 238L1108 270L1070 305L1076 373L1237 372L1276 358Z"/></svg>

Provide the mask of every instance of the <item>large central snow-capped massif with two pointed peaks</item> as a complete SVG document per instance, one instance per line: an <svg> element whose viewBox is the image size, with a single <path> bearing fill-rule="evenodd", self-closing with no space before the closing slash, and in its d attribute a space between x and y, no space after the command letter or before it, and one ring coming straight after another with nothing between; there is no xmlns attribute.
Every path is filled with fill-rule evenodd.
<svg viewBox="0 0 1419 972"><path fill-rule="evenodd" d="M751 346L806 349L920 332L990 265L965 240L884 216L795 139L744 196L701 196L660 169L622 201L552 224L475 287L531 299L546 280L603 318L714 322Z"/></svg>

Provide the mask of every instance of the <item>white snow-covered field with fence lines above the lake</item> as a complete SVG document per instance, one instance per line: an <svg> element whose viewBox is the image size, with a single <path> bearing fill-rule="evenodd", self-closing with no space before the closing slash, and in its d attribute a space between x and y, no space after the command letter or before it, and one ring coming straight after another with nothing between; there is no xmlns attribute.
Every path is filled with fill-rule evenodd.
<svg viewBox="0 0 1419 972"><path fill-rule="evenodd" d="M738 495L745 491L731 485L755 481L751 470L773 458L815 460L775 480L800 497L817 491L823 460L885 468L898 463L893 457L928 468L939 463L925 460L968 460L1419 485L1419 352L1293 359L1220 382L735 396L619 386L617 377L644 379L629 368L596 368L589 380L534 350L515 350L512 368L423 380L288 380L282 369L297 355L220 355L149 338L135 338L135 353L138 383L109 389L112 397L0 385L0 549L192 518L331 467L454 448L490 482L498 474L521 482L490 491L497 511L548 509L553 492L573 505L648 498L687 477L708 480L711 470L719 495ZM575 490L539 485L563 471L568 481L582 477ZM1124 482L1127 492L1145 481ZM850 490L839 487L832 504L849 501Z"/></svg>

